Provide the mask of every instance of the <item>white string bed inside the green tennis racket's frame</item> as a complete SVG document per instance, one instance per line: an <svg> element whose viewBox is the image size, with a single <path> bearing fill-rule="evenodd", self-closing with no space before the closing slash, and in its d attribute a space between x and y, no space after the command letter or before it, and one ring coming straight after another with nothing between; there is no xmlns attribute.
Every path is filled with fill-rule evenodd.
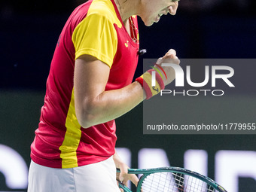
<svg viewBox="0 0 256 192"><path fill-rule="evenodd" d="M214 187L190 175L156 172L142 183L143 192L217 192Z"/></svg>

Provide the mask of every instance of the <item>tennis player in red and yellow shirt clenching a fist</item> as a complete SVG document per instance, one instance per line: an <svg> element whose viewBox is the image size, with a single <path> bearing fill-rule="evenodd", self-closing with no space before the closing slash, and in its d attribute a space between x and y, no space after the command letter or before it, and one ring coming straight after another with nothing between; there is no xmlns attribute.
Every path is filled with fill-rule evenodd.
<svg viewBox="0 0 256 192"><path fill-rule="evenodd" d="M151 70L132 83L138 62L137 16L146 26L176 13L172 0L90 0L75 9L59 35L47 90L31 145L29 192L120 191L136 175L115 153L114 119L156 95L175 74L175 50L158 60L166 78Z"/></svg>

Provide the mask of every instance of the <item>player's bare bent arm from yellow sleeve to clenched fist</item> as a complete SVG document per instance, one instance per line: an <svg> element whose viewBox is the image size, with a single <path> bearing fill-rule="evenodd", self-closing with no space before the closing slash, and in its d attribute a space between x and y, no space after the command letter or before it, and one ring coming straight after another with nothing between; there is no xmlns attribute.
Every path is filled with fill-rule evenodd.
<svg viewBox="0 0 256 192"><path fill-rule="evenodd" d="M158 62L177 62L179 64L175 50L167 52ZM168 78L160 81L166 85L173 81L175 73L169 67L164 67L164 70ZM84 128L120 117L136 107L146 97L149 99L148 94L154 96L160 91L159 89L157 93L147 93L148 90L144 87L147 83L145 80L142 84L135 81L121 89L105 91L109 72L109 67L93 56L84 55L75 62L75 112L78 122Z"/></svg>

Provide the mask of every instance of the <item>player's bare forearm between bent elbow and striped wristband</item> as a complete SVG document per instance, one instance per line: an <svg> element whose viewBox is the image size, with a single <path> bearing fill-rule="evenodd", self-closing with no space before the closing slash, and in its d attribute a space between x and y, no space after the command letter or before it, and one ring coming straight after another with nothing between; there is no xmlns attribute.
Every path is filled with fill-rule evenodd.
<svg viewBox="0 0 256 192"><path fill-rule="evenodd" d="M120 117L145 99L142 86L135 81L120 90L104 91L95 98L85 98L78 121L82 127L105 123Z"/></svg>

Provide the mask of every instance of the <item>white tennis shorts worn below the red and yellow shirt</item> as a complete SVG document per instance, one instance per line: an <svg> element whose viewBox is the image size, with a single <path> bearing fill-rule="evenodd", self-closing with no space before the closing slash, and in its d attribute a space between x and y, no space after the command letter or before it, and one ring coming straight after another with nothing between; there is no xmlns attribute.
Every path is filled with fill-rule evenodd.
<svg viewBox="0 0 256 192"><path fill-rule="evenodd" d="M54 169L31 161L28 192L120 192L113 157L70 169Z"/></svg>

